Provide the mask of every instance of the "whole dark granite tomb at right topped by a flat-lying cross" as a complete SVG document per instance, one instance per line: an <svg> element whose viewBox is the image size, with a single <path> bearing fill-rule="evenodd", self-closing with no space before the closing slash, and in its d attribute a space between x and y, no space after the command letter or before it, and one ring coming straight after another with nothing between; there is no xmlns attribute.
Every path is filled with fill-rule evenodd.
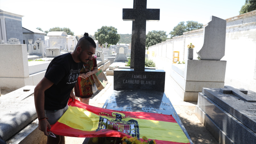
<svg viewBox="0 0 256 144"><path fill-rule="evenodd" d="M248 99L253 102L249 102ZM244 89L234 89L229 86L203 88L198 94L195 114L221 144L254 144L255 100L256 93Z"/></svg>

